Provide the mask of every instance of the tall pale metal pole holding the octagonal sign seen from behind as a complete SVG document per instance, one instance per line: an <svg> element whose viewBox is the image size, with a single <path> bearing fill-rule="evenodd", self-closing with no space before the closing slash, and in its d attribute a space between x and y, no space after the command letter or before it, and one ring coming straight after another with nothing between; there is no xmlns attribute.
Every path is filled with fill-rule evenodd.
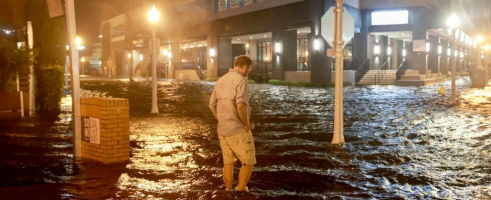
<svg viewBox="0 0 491 200"><path fill-rule="evenodd" d="M336 82L334 87L334 136L332 144L344 143L343 132L343 1L336 0L336 8L334 9L334 45L336 56Z"/></svg>

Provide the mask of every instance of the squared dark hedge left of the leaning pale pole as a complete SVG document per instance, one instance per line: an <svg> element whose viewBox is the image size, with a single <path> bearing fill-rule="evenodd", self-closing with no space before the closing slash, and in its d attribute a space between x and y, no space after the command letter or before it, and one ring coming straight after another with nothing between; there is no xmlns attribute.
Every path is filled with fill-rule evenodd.
<svg viewBox="0 0 491 200"><path fill-rule="evenodd" d="M60 113L60 102L63 97L65 73L60 65L41 65L35 68L36 73L36 104L41 113Z"/></svg>

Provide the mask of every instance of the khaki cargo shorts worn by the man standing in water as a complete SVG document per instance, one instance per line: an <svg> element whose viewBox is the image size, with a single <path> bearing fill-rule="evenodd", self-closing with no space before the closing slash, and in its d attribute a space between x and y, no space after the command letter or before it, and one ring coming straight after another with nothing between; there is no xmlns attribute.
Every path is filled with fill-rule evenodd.
<svg viewBox="0 0 491 200"><path fill-rule="evenodd" d="M233 164L237 159L242 164L256 164L256 148L253 133L245 130L230 136L218 135L223 154L223 164Z"/></svg>

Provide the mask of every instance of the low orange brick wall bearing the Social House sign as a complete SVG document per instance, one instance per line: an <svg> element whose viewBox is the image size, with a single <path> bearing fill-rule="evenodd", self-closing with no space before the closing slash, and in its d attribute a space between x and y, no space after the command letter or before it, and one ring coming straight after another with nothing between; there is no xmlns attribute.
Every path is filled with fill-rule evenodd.
<svg viewBox="0 0 491 200"><path fill-rule="evenodd" d="M82 157L104 163L129 160L130 107L128 99L80 97L80 103L81 115L99 118L100 123L100 144L82 139Z"/></svg>

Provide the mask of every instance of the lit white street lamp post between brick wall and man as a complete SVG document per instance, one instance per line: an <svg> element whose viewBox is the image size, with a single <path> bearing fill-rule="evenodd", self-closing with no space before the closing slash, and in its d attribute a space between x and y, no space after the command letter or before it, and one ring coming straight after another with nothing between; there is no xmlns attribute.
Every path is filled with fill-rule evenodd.
<svg viewBox="0 0 491 200"><path fill-rule="evenodd" d="M160 13L155 7L152 6L152 9L148 12L148 20L150 21L150 25L152 28L152 113L159 113L159 108L157 106L157 42L155 39L155 29L157 26L157 22L159 22Z"/></svg>

